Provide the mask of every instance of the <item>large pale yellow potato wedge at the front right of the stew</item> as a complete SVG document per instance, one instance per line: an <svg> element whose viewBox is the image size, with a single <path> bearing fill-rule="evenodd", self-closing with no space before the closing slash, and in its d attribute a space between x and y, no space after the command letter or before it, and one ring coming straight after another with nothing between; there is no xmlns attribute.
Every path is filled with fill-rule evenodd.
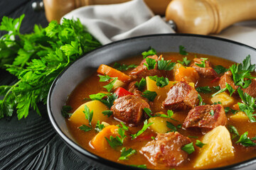
<svg viewBox="0 0 256 170"><path fill-rule="evenodd" d="M218 164L234 157L230 132L225 126L218 126L208 132L202 142L206 145L196 157L195 168Z"/></svg>

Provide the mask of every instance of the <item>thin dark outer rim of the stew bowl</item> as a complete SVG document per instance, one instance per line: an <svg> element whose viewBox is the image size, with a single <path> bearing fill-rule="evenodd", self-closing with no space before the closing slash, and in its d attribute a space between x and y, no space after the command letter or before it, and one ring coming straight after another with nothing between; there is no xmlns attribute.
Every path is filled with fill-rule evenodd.
<svg viewBox="0 0 256 170"><path fill-rule="evenodd" d="M75 62L79 62L79 60L81 60L82 57L90 56L90 54L92 52L95 52L97 50L101 50L102 48L105 48L105 47L108 47L108 46L111 46L111 45L131 41L131 40L134 40L134 39L160 37L160 36L183 36L183 37L195 37L195 38L206 38L206 39L212 39L212 40L220 40L220 41L224 41L224 42L230 42L230 43L235 44L235 45L240 45L240 46L243 46L243 47L247 47L251 50L256 51L256 48L251 47L249 45L245 45L241 42L236 42L234 40L228 40L228 39L225 39L225 38L213 37L211 35L197 35L197 34L187 34L187 33L164 33L164 34L162 33L162 34L140 35L140 36L136 36L136 37L132 37L132 38L127 38L127 39L123 39L123 40L117 40L117 41L114 41L114 42L110 42L106 45L102 45L100 47L97 47L94 50L91 50L90 52L85 53L84 55L79 57L78 60L75 60ZM58 79L60 79L60 77L62 77L62 75L68 70L68 68L71 65L73 65L75 62L71 63L70 65L68 65L68 67L63 69L63 72L61 72L58 75L58 77L56 77L54 79L53 84L50 86L50 90L48 92L47 111L48 111L48 116L49 116L49 119L50 119L50 123L53 126L55 132L57 132L57 134L65 142L66 145L68 145L72 149L75 149L75 151L78 152L79 154L82 154L83 156L85 156L89 159L92 159L93 161L97 162L98 164L105 164L107 166L111 166L111 167L117 168L117 169L141 169L141 168L137 168L137 167L134 167L134 166L129 166L129 165L125 165L125 164L119 164L117 162L112 162L108 159L105 159L103 157L98 156L97 154L94 154L90 151L87 151L86 149L84 149L80 145L78 145L78 143L73 142L73 140L70 140L70 138L67 135L65 135L65 133L60 129L60 127L57 124L55 118L53 117L53 113L51 111L50 98L51 98L51 94L53 93L53 89L55 88L55 85L58 82ZM255 163L256 163L256 157L251 158L251 159L247 159L247 160L242 161L242 162L238 162L236 164L230 164L228 166L221 166L221 167L208 169L208 170L240 169L240 168L244 168L246 166L250 166L250 165L255 164Z"/></svg>

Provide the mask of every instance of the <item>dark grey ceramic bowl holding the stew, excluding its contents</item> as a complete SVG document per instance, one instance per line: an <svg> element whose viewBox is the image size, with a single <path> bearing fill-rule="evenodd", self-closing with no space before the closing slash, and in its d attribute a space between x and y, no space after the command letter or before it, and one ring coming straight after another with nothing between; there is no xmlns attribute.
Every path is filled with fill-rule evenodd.
<svg viewBox="0 0 256 170"><path fill-rule="evenodd" d="M53 128L73 151L99 169L137 169L103 159L80 147L68 131L65 119L60 111L75 86L95 72L100 64L110 64L127 57L140 55L148 50L150 46L154 47L157 52L178 52L178 45L186 47L188 52L223 57L235 62L242 62L247 55L251 55L252 63L256 63L255 48L210 36L162 34L112 42L82 56L55 79L50 88L47 102L48 114ZM218 169L256 169L255 163L256 158Z"/></svg>

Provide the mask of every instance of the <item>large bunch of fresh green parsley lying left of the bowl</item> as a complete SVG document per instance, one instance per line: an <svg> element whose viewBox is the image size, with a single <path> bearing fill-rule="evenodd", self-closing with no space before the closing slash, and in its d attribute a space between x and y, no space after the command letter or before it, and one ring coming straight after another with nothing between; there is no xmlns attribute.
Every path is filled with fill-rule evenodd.
<svg viewBox="0 0 256 170"><path fill-rule="evenodd" d="M55 77L81 55L100 46L79 19L51 21L47 28L35 25L33 33L21 34L24 18L4 16L0 30L0 67L17 77L15 84L0 86L0 118L11 116L16 108L18 119L26 118L30 108L41 115L37 103L46 104Z"/></svg>

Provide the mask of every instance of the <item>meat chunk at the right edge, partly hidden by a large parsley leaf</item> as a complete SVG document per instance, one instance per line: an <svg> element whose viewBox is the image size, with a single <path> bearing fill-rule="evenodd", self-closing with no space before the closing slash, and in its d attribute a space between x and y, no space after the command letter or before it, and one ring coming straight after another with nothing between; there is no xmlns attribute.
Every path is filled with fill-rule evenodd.
<svg viewBox="0 0 256 170"><path fill-rule="evenodd" d="M251 79L252 83L250 84L250 86L248 86L245 89L242 89L242 91L244 91L244 93L249 94L252 97L256 97L256 79ZM232 86L233 89L235 89L235 94L237 94L237 89L238 86L235 85L234 81L233 81L233 74L232 72L228 71L225 72L225 74L220 77L220 88L224 89L225 88L225 84L228 83L230 86Z"/></svg>

